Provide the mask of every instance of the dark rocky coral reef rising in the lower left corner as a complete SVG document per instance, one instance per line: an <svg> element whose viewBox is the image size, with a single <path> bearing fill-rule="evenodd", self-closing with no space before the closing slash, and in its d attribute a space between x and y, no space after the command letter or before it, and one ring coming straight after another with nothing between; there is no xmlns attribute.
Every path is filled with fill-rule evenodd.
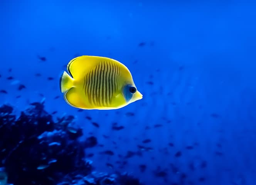
<svg viewBox="0 0 256 185"><path fill-rule="evenodd" d="M13 185L140 185L124 173L93 171L85 158L86 147L97 144L96 137L84 142L77 138L82 129L73 127L73 116L58 118L35 102L17 118L8 105L0 107L0 167ZM1 179L0 179L1 181Z"/></svg>

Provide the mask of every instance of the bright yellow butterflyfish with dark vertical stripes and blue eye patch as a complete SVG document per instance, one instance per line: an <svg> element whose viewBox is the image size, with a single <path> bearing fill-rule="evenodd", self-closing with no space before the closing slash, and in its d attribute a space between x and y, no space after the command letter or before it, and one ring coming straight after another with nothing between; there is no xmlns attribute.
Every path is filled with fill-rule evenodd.
<svg viewBox="0 0 256 185"><path fill-rule="evenodd" d="M101 56L79 56L67 64L60 78L67 104L80 109L119 109L142 99L129 69Z"/></svg>

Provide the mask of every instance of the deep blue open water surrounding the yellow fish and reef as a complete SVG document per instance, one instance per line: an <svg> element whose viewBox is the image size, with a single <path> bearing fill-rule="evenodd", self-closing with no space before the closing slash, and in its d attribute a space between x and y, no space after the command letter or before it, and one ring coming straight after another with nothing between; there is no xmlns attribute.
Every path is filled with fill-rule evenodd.
<svg viewBox="0 0 256 185"><path fill-rule="evenodd" d="M19 114L45 98L54 119L74 115L84 137L104 145L86 149L101 172L129 172L148 185L255 185L255 10L254 2L239 1L2 0L0 89L7 93L0 104ZM125 64L143 99L108 111L66 104L59 76L80 55ZM124 129L112 130L115 122ZM116 163L138 145L153 150ZM167 176L156 177L157 170Z"/></svg>

